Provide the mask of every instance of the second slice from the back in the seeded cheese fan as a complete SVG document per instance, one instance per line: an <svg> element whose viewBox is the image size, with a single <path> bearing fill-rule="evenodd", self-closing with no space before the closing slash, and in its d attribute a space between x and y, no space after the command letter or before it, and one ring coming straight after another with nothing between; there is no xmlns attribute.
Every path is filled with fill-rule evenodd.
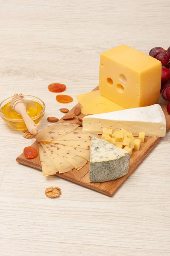
<svg viewBox="0 0 170 256"><path fill-rule="evenodd" d="M53 143L58 143L59 140L91 140L95 134L84 134L82 127L78 127L74 131L66 134L58 139L52 140Z"/></svg>

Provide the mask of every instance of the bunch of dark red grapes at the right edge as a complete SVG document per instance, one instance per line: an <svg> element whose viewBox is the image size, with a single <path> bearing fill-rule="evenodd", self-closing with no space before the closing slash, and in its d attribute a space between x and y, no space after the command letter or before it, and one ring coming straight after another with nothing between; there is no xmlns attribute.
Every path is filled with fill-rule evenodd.
<svg viewBox="0 0 170 256"><path fill-rule="evenodd" d="M149 55L161 61L161 93L162 98L169 101L167 112L170 114L170 47L168 47L167 51L162 47L154 47L150 50Z"/></svg>

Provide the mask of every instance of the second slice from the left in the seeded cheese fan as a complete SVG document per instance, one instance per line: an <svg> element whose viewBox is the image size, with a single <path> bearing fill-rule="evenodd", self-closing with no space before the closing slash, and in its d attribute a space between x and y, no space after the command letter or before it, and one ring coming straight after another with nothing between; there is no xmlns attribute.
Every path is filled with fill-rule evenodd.
<svg viewBox="0 0 170 256"><path fill-rule="evenodd" d="M70 163L68 163L63 157L59 156L58 154L55 154L54 151L49 148L46 143L41 143L43 146L43 149L46 151L47 156L52 161L54 166L58 169L59 173L64 172L70 172L72 169L74 169L74 166L72 166Z"/></svg>

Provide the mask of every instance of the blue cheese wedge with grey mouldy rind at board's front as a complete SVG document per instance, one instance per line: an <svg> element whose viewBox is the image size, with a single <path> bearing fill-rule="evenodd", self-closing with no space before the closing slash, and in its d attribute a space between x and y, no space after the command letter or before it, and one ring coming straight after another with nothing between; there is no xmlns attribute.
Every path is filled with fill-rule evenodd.
<svg viewBox="0 0 170 256"><path fill-rule="evenodd" d="M90 182L118 179L129 170L130 153L96 136L90 148Z"/></svg>

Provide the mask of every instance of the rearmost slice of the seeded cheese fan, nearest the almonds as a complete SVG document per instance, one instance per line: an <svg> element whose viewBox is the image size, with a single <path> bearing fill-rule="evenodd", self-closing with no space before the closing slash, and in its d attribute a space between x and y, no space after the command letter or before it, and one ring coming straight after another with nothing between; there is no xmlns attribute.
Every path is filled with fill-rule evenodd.
<svg viewBox="0 0 170 256"><path fill-rule="evenodd" d="M39 142L50 142L54 139L62 137L78 128L79 125L70 123L60 123L47 126L39 132L35 139Z"/></svg>

